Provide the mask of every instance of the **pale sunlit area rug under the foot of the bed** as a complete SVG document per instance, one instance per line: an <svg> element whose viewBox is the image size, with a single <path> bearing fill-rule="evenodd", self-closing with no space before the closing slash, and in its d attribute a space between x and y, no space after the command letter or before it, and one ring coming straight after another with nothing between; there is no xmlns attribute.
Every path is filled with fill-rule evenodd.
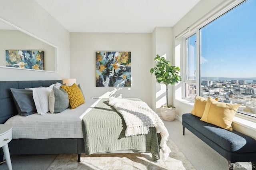
<svg viewBox="0 0 256 170"><path fill-rule="evenodd" d="M77 154L59 154L48 170L195 170L170 138L167 144L172 152L166 161L152 162L150 153L81 154L81 162Z"/></svg>

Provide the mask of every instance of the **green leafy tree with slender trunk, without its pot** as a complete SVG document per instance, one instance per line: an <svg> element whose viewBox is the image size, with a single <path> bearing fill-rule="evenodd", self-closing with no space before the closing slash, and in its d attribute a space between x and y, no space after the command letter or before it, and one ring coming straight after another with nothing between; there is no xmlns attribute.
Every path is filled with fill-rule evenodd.
<svg viewBox="0 0 256 170"><path fill-rule="evenodd" d="M162 82L166 85L166 107L174 108L168 103L168 85L174 85L181 81L181 77L178 75L180 68L170 65L170 61L157 54L154 58L154 67L150 69L150 73L155 74L158 83Z"/></svg>

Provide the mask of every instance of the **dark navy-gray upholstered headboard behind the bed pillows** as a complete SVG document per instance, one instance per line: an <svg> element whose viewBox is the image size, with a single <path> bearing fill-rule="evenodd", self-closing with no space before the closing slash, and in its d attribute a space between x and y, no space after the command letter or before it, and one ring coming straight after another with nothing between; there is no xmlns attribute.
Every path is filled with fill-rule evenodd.
<svg viewBox="0 0 256 170"><path fill-rule="evenodd" d="M10 88L49 87L56 82L62 83L62 80L0 81L0 124L4 124L10 117L18 114Z"/></svg>

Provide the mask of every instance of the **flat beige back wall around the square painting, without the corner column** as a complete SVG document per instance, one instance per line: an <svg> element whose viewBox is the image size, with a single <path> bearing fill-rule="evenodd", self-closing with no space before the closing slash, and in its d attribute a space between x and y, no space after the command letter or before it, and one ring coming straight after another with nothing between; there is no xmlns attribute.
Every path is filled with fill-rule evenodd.
<svg viewBox="0 0 256 170"><path fill-rule="evenodd" d="M96 51L130 51L132 86L96 87ZM86 98L140 97L151 106L151 63L151 34L70 33L70 78Z"/></svg>

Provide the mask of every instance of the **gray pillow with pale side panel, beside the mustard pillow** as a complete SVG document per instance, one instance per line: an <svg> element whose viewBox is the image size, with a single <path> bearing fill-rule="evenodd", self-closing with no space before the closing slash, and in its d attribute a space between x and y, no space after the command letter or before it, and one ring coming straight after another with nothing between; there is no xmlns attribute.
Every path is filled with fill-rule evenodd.
<svg viewBox="0 0 256 170"><path fill-rule="evenodd" d="M50 113L60 113L68 108L69 99L68 93L60 87L60 89L53 87L53 93L49 97Z"/></svg>

